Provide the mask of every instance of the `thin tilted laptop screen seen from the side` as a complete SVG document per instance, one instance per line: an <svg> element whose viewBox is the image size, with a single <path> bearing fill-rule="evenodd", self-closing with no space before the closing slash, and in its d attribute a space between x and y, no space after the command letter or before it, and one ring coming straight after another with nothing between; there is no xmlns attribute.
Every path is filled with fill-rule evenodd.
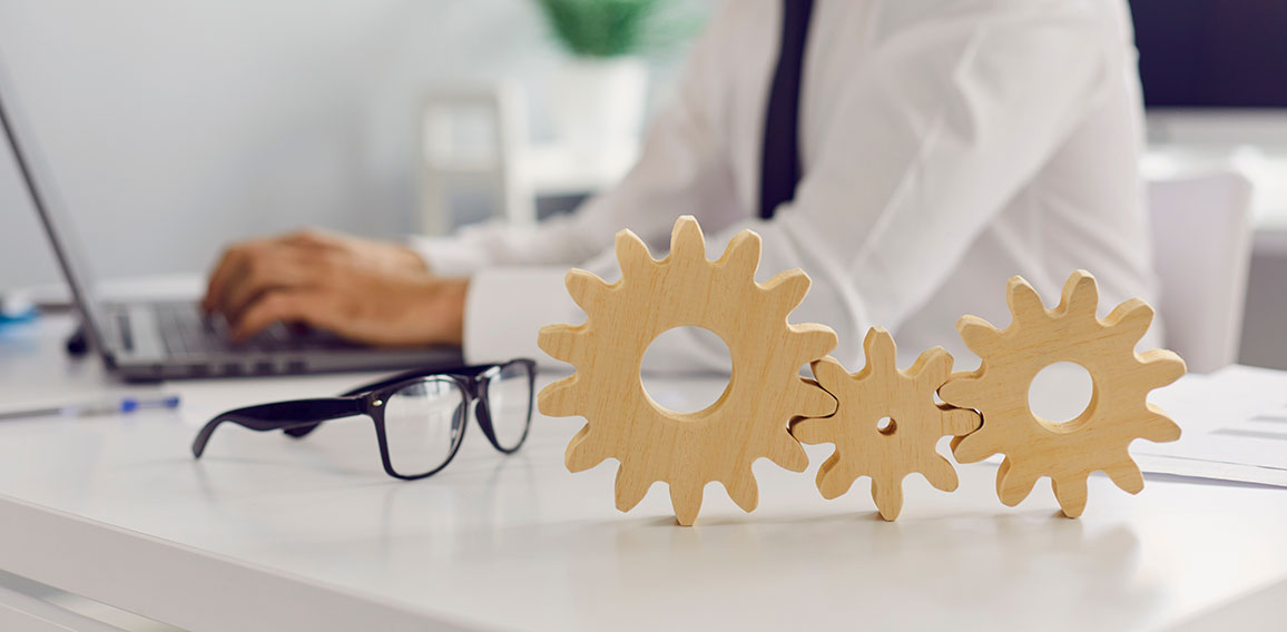
<svg viewBox="0 0 1287 632"><path fill-rule="evenodd" d="M62 202L54 192L49 170L39 154L31 126L22 117L21 104L17 102L18 94L14 82L0 60L0 127L4 127L5 139L13 152L14 162L18 165L18 175L27 187L31 203L36 207L36 214L54 247L58 265L63 269L63 275L67 277L72 299L84 318L85 335L89 336L95 349L106 354L102 314L90 287L93 281L89 278L89 269L84 265L81 255L84 251L75 241L75 236L69 234L72 230L68 229Z"/></svg>

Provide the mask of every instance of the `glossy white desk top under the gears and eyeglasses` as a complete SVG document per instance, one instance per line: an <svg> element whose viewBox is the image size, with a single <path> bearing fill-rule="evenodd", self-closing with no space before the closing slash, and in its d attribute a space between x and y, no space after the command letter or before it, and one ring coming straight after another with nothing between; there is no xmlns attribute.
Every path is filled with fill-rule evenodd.
<svg viewBox="0 0 1287 632"><path fill-rule="evenodd" d="M0 333L0 398L102 387L62 357L67 326ZM663 485L619 514L613 462L564 470L579 420L538 417L510 458L472 427L418 483L382 472L356 420L304 441L228 426L188 452L219 408L358 380L176 385L181 416L0 425L0 569L194 631L1281 626L1282 489L1151 478L1130 497L1095 476L1068 520L1048 484L1006 508L996 469L968 465L955 494L909 479L887 524L865 483L817 494L822 447L804 475L761 461L754 514L712 485L680 528Z"/></svg>

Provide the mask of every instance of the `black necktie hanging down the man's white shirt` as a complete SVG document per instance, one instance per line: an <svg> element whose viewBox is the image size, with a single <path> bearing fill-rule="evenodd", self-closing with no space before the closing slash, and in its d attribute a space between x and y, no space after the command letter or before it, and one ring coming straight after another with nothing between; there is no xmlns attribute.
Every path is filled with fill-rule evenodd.
<svg viewBox="0 0 1287 632"><path fill-rule="evenodd" d="M782 0L782 41L764 113L764 152L759 163L759 216L773 216L777 205L795 198L801 180L799 103L804 37L813 0Z"/></svg>

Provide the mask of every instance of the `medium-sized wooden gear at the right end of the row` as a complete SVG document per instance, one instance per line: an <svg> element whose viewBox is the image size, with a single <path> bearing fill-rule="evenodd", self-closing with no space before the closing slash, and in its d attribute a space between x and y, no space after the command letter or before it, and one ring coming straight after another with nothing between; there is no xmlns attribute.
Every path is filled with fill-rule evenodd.
<svg viewBox="0 0 1287 632"><path fill-rule="evenodd" d="M1139 493L1144 479L1127 448L1138 438L1174 441L1180 427L1148 403L1148 393L1184 375L1184 360L1172 351L1135 353L1148 331L1153 309L1139 299L1117 305L1098 318L1099 290L1085 270L1063 286L1054 309L1021 277L1006 288L1013 322L1004 330L977 317L956 323L965 344L983 362L978 369L955 373L940 390L949 404L974 408L983 426L952 440L963 463L1005 454L996 492L1008 506L1023 501L1036 480L1049 476L1064 515L1076 517L1086 506L1086 476L1104 471L1117 487ZM1076 418L1054 423L1028 408L1033 377L1057 362L1080 364L1090 373L1090 404Z"/></svg>

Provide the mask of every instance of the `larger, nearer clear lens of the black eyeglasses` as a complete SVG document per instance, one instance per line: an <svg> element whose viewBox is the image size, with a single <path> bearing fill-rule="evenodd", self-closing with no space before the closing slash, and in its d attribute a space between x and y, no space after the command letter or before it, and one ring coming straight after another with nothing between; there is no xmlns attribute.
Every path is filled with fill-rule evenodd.
<svg viewBox="0 0 1287 632"><path fill-rule="evenodd" d="M461 440L467 416L465 393L452 380L412 382L385 402L389 462L403 476L441 467Z"/></svg>

